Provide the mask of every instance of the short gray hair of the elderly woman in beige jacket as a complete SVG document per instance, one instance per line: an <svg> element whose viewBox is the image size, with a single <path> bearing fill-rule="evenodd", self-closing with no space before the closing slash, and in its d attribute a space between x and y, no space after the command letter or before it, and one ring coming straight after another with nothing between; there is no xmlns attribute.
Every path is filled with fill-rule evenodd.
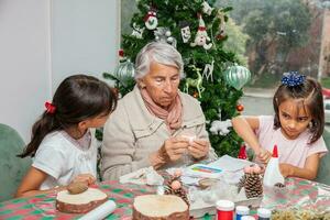
<svg viewBox="0 0 330 220"><path fill-rule="evenodd" d="M135 59L135 80L144 77L150 72L152 62L178 68L179 75L184 76L184 62L178 51L167 43L151 42L138 54Z"/></svg>

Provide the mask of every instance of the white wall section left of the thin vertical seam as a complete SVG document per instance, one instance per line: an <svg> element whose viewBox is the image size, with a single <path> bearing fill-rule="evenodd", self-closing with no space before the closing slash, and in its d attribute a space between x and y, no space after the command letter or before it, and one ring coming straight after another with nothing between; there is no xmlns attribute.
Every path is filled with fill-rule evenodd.
<svg viewBox="0 0 330 220"><path fill-rule="evenodd" d="M28 140L51 94L50 3L0 0L0 123Z"/></svg>

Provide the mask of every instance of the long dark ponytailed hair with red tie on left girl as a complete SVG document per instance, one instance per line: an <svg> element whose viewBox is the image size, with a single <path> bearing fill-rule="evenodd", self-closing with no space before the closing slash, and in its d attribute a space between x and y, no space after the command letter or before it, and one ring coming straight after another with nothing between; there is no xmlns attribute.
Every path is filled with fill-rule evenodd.
<svg viewBox="0 0 330 220"><path fill-rule="evenodd" d="M92 76L74 75L58 86L52 105L56 108L55 112L44 111L33 124L31 142L19 157L34 156L43 139L53 131L112 112L117 107L117 96L106 82Z"/></svg>

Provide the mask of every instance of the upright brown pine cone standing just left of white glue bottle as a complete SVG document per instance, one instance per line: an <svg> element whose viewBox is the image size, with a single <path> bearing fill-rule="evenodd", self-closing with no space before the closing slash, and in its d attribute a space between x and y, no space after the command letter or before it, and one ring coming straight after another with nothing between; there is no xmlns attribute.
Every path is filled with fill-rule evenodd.
<svg viewBox="0 0 330 220"><path fill-rule="evenodd" d="M245 174L245 195L246 198L260 197L263 195L263 184L258 174Z"/></svg>

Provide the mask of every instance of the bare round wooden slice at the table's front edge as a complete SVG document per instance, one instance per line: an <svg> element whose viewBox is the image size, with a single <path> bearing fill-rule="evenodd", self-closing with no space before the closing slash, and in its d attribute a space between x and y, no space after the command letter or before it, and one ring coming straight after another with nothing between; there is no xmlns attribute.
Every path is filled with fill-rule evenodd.
<svg viewBox="0 0 330 220"><path fill-rule="evenodd" d="M174 195L144 195L134 198L133 220L188 220L189 208Z"/></svg>

